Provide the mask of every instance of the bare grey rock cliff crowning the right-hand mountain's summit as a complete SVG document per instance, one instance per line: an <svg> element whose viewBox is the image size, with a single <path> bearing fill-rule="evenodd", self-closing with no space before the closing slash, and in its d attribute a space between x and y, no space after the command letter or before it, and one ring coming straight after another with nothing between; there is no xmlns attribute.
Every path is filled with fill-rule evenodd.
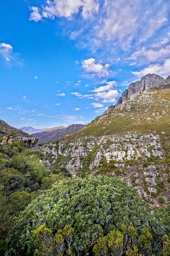
<svg viewBox="0 0 170 256"><path fill-rule="evenodd" d="M158 76L156 74L147 74L146 76L143 76L140 81L130 83L128 89L126 89L122 93L122 97L119 97L118 102L115 105L109 106L106 112L108 112L112 108L120 106L123 102L128 101L133 94L137 94L142 90L159 88L166 85L170 85L170 76L168 76L167 79L163 79L161 76ZM105 112L103 114L105 115Z"/></svg>

